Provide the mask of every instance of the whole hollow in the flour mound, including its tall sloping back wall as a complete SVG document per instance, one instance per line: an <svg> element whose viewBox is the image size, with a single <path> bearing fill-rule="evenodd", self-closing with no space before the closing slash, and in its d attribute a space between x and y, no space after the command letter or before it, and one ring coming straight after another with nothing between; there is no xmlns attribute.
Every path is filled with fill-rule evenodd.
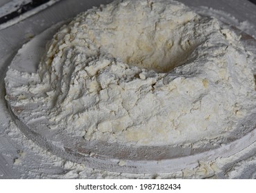
<svg viewBox="0 0 256 193"><path fill-rule="evenodd" d="M101 54L110 54L139 68L169 72L184 64L199 44L201 27L195 25L200 23L195 14L184 12L181 17L175 10L163 9L161 14L152 15L147 8L141 12L133 7L129 11L122 9L117 9L118 14L113 13L108 22L99 17L96 23L104 26L88 32Z"/></svg>

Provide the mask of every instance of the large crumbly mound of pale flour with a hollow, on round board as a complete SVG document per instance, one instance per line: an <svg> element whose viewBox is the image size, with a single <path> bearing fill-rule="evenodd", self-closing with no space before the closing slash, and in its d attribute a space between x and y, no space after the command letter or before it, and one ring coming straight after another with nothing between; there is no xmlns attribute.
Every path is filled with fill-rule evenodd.
<svg viewBox="0 0 256 193"><path fill-rule="evenodd" d="M235 32L177 1L113 1L63 26L37 73L10 68L7 74L30 82L14 87L6 79L6 99L12 108L42 103L31 113L89 141L217 139L255 107L250 55Z"/></svg>

